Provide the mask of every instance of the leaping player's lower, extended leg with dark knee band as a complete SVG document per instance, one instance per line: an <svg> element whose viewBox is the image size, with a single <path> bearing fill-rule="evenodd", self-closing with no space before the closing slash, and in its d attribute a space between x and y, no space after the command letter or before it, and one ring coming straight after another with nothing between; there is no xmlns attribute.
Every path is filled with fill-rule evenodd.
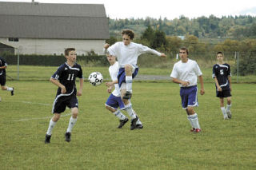
<svg viewBox="0 0 256 170"><path fill-rule="evenodd" d="M132 105L128 99L123 98L126 95L126 89L123 89L123 85L121 86L121 95L122 95L122 101L125 104L126 112L129 114L131 118L131 124L130 124L130 130L134 130L136 128L136 122L138 121L138 117L134 113L134 109L132 108Z"/></svg>

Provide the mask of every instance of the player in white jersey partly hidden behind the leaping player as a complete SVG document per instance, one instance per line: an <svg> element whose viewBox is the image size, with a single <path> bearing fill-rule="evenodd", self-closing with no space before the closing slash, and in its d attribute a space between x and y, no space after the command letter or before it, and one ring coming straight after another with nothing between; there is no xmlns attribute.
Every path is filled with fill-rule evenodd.
<svg viewBox="0 0 256 170"><path fill-rule="evenodd" d="M106 82L106 86L108 87L107 92L111 93L113 88L114 90L110 94L110 97L108 97L105 105L106 109L110 110L115 117L118 117L120 121L118 128L122 128L122 126L125 125L129 119L121 112L121 110L125 109L125 105L122 102L121 93L118 86L118 61L116 61L116 58L110 54L106 54L106 57L110 62L109 72L112 80L111 82ZM143 128L142 122L139 121L139 119L136 122L136 128Z"/></svg>

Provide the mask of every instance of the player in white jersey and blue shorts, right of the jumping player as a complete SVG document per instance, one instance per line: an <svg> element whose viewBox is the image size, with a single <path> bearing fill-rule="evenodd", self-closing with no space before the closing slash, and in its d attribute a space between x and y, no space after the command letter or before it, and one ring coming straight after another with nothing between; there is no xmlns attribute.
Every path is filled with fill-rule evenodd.
<svg viewBox="0 0 256 170"><path fill-rule="evenodd" d="M198 114L195 113L194 107L198 106L198 87L197 79L201 84L200 93L203 95L202 72L196 61L188 58L189 51L185 47L179 49L179 57L181 61L174 64L174 68L170 74L174 83L178 83L181 87L180 96L182 98L182 108L186 109L187 118L192 126L191 132L201 132L198 122Z"/></svg>

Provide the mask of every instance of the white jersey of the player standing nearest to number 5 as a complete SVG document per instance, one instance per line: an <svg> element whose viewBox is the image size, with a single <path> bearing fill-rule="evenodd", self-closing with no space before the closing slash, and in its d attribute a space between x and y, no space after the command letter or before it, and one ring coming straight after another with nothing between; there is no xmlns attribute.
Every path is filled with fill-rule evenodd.
<svg viewBox="0 0 256 170"><path fill-rule="evenodd" d="M198 66L198 63L194 60L188 59L186 63L178 61L174 64L174 69L170 74L170 77L177 78L181 81L189 81L193 86L198 84L198 76L201 76L202 72ZM179 86L182 87L181 84Z"/></svg>

